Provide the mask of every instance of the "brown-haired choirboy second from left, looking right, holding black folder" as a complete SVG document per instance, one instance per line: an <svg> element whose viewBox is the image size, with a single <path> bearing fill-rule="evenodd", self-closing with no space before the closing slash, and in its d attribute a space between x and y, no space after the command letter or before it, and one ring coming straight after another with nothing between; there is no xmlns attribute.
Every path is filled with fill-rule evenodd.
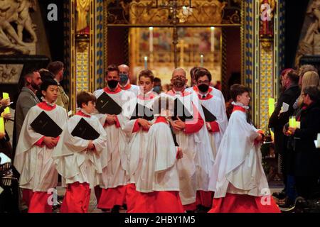
<svg viewBox="0 0 320 227"><path fill-rule="evenodd" d="M91 189L99 184L101 162L108 160L102 153L107 146L107 135L98 118L91 115L95 111L95 101L95 96L90 92L77 95L80 110L63 128L60 141L53 151L57 170L68 185L61 213L87 213ZM83 120L99 133L97 138L90 140L73 135L78 123Z"/></svg>

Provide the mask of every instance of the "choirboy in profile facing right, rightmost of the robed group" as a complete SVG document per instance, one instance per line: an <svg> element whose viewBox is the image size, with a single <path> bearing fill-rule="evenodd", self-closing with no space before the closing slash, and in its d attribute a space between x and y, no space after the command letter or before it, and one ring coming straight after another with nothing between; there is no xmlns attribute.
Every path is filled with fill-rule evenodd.
<svg viewBox="0 0 320 227"><path fill-rule="evenodd" d="M233 84L233 114L220 143L209 189L210 213L279 213L262 167L263 134L247 121L249 90ZM230 158L232 157L232 158Z"/></svg>

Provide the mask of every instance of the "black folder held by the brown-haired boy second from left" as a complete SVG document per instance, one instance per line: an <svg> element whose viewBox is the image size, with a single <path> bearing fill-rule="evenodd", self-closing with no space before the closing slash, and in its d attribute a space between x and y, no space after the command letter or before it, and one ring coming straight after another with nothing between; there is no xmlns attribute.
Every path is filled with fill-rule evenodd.
<svg viewBox="0 0 320 227"><path fill-rule="evenodd" d="M90 126L90 123L87 123L83 118L81 118L77 126L75 126L71 135L78 136L84 140L95 140L100 136L95 128Z"/></svg>

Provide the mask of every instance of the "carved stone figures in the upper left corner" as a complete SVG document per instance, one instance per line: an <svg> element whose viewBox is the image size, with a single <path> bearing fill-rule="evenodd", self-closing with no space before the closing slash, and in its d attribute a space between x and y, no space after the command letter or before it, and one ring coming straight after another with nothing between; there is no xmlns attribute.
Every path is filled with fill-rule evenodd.
<svg viewBox="0 0 320 227"><path fill-rule="evenodd" d="M34 6L34 0L0 1L0 55L30 53L28 43L23 42L23 29L30 33L32 42L36 43L37 37L29 14L29 9ZM12 26L13 23L16 23L16 28Z"/></svg>

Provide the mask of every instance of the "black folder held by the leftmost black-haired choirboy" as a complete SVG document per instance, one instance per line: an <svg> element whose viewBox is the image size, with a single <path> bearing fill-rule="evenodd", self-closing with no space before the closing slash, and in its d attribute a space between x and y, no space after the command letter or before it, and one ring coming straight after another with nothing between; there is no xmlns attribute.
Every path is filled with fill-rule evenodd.
<svg viewBox="0 0 320 227"><path fill-rule="evenodd" d="M53 119L42 111L30 125L36 133L44 136L58 137L62 129L53 121Z"/></svg>

